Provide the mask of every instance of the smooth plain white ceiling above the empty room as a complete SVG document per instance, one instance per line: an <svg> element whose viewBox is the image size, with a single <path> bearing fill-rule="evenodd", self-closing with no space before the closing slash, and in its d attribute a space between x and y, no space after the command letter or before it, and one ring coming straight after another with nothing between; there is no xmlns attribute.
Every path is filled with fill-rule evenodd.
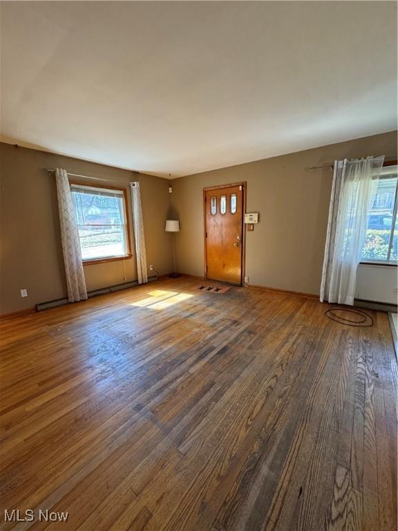
<svg viewBox="0 0 398 531"><path fill-rule="evenodd" d="M397 3L1 3L1 138L172 177L397 129Z"/></svg>

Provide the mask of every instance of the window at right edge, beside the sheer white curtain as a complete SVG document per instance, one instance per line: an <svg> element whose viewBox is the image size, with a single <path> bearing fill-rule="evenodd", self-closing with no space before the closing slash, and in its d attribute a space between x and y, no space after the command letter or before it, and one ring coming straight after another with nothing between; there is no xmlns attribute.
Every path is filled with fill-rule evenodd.
<svg viewBox="0 0 398 531"><path fill-rule="evenodd" d="M397 263L397 180L398 166L383 167L369 213L362 261Z"/></svg>

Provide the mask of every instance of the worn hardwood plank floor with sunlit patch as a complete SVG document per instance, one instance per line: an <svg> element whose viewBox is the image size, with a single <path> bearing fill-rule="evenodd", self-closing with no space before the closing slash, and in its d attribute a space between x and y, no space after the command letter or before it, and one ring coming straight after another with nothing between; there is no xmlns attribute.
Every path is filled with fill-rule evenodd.
<svg viewBox="0 0 398 531"><path fill-rule="evenodd" d="M196 285L0 322L1 530L396 530L388 315Z"/></svg>

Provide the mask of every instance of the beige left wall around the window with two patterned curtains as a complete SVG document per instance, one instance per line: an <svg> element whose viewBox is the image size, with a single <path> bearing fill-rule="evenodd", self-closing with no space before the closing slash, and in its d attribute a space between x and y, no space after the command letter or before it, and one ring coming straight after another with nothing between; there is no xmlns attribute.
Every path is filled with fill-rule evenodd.
<svg viewBox="0 0 398 531"><path fill-rule="evenodd" d="M73 174L106 179L110 185L125 183L128 191L129 182L139 180L148 268L153 264L160 274L173 269L171 239L164 232L170 205L167 180L1 143L0 314L66 296L55 178L44 167L64 167ZM133 238L130 203L129 191ZM133 241L131 248L133 259L86 265L88 290L137 279ZM21 298L21 288L28 290L28 297Z"/></svg>

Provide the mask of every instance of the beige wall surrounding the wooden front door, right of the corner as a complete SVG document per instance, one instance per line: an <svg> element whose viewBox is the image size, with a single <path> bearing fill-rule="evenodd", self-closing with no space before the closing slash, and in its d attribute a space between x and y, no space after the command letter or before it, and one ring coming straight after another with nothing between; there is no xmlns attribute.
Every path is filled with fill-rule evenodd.
<svg viewBox="0 0 398 531"><path fill-rule="evenodd" d="M247 212L260 223L246 236L249 283L319 293L332 171L310 171L341 158L397 153L397 131L173 180L180 218L178 270L204 274L202 189L247 182Z"/></svg>

